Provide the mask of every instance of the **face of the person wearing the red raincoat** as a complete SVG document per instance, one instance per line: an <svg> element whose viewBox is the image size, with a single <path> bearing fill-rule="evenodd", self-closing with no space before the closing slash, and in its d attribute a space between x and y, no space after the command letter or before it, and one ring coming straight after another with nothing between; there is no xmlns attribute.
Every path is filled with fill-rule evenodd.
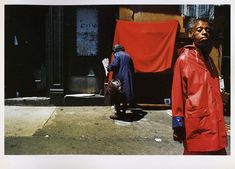
<svg viewBox="0 0 235 169"><path fill-rule="evenodd" d="M208 22L198 21L196 22L191 37L196 46L208 45L210 38L211 28Z"/></svg>

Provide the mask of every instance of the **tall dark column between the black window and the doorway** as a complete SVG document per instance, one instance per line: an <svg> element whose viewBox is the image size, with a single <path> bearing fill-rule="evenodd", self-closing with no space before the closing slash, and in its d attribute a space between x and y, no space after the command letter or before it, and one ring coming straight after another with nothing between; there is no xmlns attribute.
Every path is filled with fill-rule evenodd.
<svg viewBox="0 0 235 169"><path fill-rule="evenodd" d="M48 77L51 104L63 105L63 7L49 7L48 15Z"/></svg>

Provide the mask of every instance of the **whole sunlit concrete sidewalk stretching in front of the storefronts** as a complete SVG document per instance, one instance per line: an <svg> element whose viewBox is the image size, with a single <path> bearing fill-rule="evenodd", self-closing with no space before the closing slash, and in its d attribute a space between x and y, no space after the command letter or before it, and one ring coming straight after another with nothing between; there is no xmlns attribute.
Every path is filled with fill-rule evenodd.
<svg viewBox="0 0 235 169"><path fill-rule="evenodd" d="M171 110L132 109L111 120L110 106L5 106L5 154L181 155ZM226 117L230 126L230 117ZM228 135L230 153L230 136Z"/></svg>

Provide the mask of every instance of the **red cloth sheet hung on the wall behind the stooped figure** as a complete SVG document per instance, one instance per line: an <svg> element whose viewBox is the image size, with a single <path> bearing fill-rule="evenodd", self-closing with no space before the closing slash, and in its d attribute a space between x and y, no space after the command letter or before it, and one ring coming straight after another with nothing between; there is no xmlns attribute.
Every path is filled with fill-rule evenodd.
<svg viewBox="0 0 235 169"><path fill-rule="evenodd" d="M113 44L125 47L133 59L135 72L161 72L171 67L177 28L177 20L118 20Z"/></svg>

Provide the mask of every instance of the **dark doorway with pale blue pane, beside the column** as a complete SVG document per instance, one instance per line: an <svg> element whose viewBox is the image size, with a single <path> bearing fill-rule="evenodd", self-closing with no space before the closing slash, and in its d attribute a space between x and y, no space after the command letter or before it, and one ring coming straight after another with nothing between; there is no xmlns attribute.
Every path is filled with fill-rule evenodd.
<svg viewBox="0 0 235 169"><path fill-rule="evenodd" d="M101 93L101 61L111 55L116 11L112 6L65 8L66 94Z"/></svg>

